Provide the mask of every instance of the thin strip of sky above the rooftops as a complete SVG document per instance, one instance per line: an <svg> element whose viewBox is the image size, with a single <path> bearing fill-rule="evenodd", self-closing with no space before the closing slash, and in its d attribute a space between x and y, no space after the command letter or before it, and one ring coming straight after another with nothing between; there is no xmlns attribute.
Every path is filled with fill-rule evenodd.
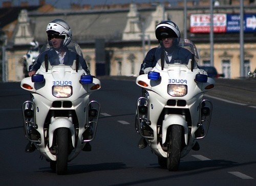
<svg viewBox="0 0 256 186"><path fill-rule="evenodd" d="M163 3L176 2L178 0L45 0L47 4L51 4L56 8L70 8L71 3L85 5L110 5L110 4L126 4L126 3ZM14 6L18 6L21 2L29 2L30 5L39 5L39 0L0 0L0 7L3 2L12 2Z"/></svg>

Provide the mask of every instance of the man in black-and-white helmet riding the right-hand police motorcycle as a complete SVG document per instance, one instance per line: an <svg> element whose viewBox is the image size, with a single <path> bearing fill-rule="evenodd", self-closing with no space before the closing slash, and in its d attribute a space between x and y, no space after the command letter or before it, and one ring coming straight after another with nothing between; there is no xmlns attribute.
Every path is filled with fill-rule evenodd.
<svg viewBox="0 0 256 186"><path fill-rule="evenodd" d="M156 66L158 60L165 61L163 64L161 62L162 68L166 66L166 64L172 63L185 63L192 58L192 54L189 50L178 46L180 41L180 30L178 25L170 20L161 21L155 30L156 38L158 39L159 46L150 49L140 68L140 75L147 74L150 72L153 67ZM163 54L163 55L162 55ZM161 59L163 56L164 60ZM146 90L142 88L142 96L146 96ZM146 126L145 126L146 127ZM139 140L138 148L143 149L147 146L146 140L142 137ZM193 147L194 150L199 150L198 142Z"/></svg>

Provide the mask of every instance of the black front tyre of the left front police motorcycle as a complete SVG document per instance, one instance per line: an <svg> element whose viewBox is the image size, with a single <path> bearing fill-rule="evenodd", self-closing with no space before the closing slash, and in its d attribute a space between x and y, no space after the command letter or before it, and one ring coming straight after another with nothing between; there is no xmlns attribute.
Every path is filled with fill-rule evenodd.
<svg viewBox="0 0 256 186"><path fill-rule="evenodd" d="M58 128L56 133L57 152L56 152L56 173L63 175L67 173L69 155L69 129Z"/></svg>

